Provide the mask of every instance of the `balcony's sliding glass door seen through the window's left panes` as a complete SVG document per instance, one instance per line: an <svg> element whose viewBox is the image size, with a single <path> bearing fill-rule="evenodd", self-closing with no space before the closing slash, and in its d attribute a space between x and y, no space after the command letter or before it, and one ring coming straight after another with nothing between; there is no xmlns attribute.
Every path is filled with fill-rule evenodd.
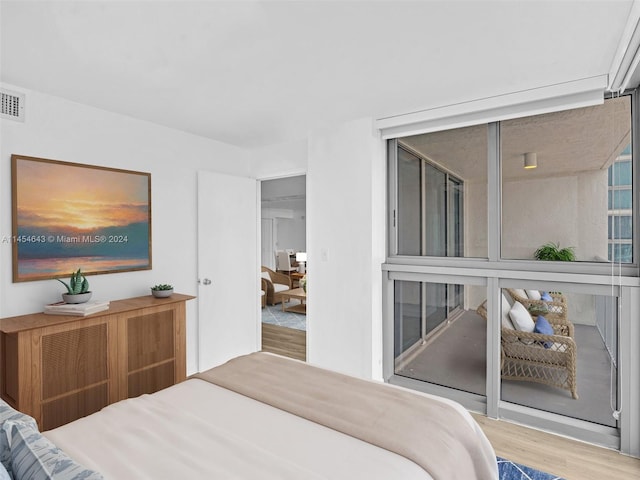
<svg viewBox="0 0 640 480"><path fill-rule="evenodd" d="M463 250L463 182L411 149L399 146L398 249L401 255L456 257ZM455 318L464 287L396 282L395 358L398 366ZM403 360L404 359L404 360Z"/></svg>

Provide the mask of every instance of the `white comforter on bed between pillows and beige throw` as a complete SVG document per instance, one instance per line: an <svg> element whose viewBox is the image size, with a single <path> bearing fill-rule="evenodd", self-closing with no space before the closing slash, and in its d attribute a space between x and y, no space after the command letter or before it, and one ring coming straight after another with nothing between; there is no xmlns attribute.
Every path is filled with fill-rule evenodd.
<svg viewBox="0 0 640 480"><path fill-rule="evenodd" d="M202 380L44 435L110 480L428 480L412 461Z"/></svg>

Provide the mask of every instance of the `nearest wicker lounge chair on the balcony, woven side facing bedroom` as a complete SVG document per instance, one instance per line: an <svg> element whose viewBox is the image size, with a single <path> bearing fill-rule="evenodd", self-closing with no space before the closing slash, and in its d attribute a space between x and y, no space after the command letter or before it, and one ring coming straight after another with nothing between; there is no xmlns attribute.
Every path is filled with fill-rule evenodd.
<svg viewBox="0 0 640 480"><path fill-rule="evenodd" d="M476 311L487 319L486 300ZM577 350L573 324L562 314L549 312L544 317L553 327L554 335L501 327L501 376L505 380L563 388L577 399Z"/></svg>

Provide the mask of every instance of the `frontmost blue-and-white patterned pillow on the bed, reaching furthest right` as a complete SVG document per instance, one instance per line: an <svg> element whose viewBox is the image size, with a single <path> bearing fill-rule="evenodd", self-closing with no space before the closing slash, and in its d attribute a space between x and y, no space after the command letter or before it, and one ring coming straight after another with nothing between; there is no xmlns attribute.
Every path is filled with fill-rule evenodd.
<svg viewBox="0 0 640 480"><path fill-rule="evenodd" d="M99 473L74 462L29 423L7 420L2 429L11 446L16 480L103 480Z"/></svg>

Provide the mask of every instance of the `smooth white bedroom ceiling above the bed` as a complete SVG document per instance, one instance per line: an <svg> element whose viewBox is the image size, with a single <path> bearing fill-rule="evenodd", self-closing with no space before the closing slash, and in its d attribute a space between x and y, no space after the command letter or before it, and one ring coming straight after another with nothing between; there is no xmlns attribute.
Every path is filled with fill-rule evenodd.
<svg viewBox="0 0 640 480"><path fill-rule="evenodd" d="M257 147L609 73L632 4L2 0L0 80Z"/></svg>

